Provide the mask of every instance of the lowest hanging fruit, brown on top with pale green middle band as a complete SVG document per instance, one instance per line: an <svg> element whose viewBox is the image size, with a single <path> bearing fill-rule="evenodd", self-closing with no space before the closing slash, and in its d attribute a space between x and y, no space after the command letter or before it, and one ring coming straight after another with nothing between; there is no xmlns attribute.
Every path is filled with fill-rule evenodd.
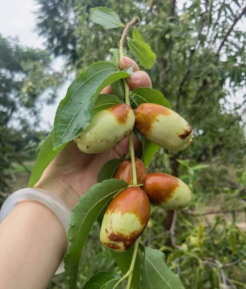
<svg viewBox="0 0 246 289"><path fill-rule="evenodd" d="M100 240L114 251L130 249L148 224L150 203L146 193L138 187L120 192L109 204L103 217Z"/></svg>

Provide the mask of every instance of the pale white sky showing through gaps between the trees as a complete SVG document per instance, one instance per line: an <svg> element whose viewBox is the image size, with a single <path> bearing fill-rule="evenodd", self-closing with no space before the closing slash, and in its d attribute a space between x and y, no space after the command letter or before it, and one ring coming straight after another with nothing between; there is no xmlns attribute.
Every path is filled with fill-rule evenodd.
<svg viewBox="0 0 246 289"><path fill-rule="evenodd" d="M178 6L181 8L185 0L177 1ZM36 14L38 5L35 0L0 0L0 34L3 37L18 37L20 44L32 48L45 49L45 38L38 35L36 27ZM236 24L235 28L240 28L246 31L246 18ZM53 61L53 67L59 69L64 66L64 61L58 57ZM59 89L58 97L52 105L44 105L42 107L40 127L42 129L50 130L53 126L55 112L59 102L65 97L68 86L71 80L66 81ZM233 102L239 103L242 99L242 92L236 95Z"/></svg>

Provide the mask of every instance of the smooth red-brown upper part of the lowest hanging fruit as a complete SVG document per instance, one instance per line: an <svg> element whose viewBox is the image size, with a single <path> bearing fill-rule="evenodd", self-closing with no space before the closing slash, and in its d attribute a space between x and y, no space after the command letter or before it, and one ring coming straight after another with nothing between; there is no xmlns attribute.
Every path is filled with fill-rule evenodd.
<svg viewBox="0 0 246 289"><path fill-rule="evenodd" d="M150 216L150 203L146 193L138 187L129 187L120 192L109 204L106 214L110 212L132 213L142 226L147 226Z"/></svg>

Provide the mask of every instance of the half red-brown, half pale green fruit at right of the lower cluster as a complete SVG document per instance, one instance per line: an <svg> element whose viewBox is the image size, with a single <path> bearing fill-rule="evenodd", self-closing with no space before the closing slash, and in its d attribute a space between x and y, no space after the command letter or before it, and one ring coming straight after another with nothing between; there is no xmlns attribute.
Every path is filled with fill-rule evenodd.
<svg viewBox="0 0 246 289"><path fill-rule="evenodd" d="M143 184L150 202L158 207L180 210L191 201L190 188L174 176L153 172L144 178Z"/></svg>

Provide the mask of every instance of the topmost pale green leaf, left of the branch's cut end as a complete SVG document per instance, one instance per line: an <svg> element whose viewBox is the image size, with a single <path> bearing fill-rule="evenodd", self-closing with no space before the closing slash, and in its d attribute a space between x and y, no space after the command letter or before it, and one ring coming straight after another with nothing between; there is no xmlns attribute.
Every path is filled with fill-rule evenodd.
<svg viewBox="0 0 246 289"><path fill-rule="evenodd" d="M90 20L99 24L105 29L117 28L124 25L119 16L111 9L105 7L96 7L90 10Z"/></svg>

